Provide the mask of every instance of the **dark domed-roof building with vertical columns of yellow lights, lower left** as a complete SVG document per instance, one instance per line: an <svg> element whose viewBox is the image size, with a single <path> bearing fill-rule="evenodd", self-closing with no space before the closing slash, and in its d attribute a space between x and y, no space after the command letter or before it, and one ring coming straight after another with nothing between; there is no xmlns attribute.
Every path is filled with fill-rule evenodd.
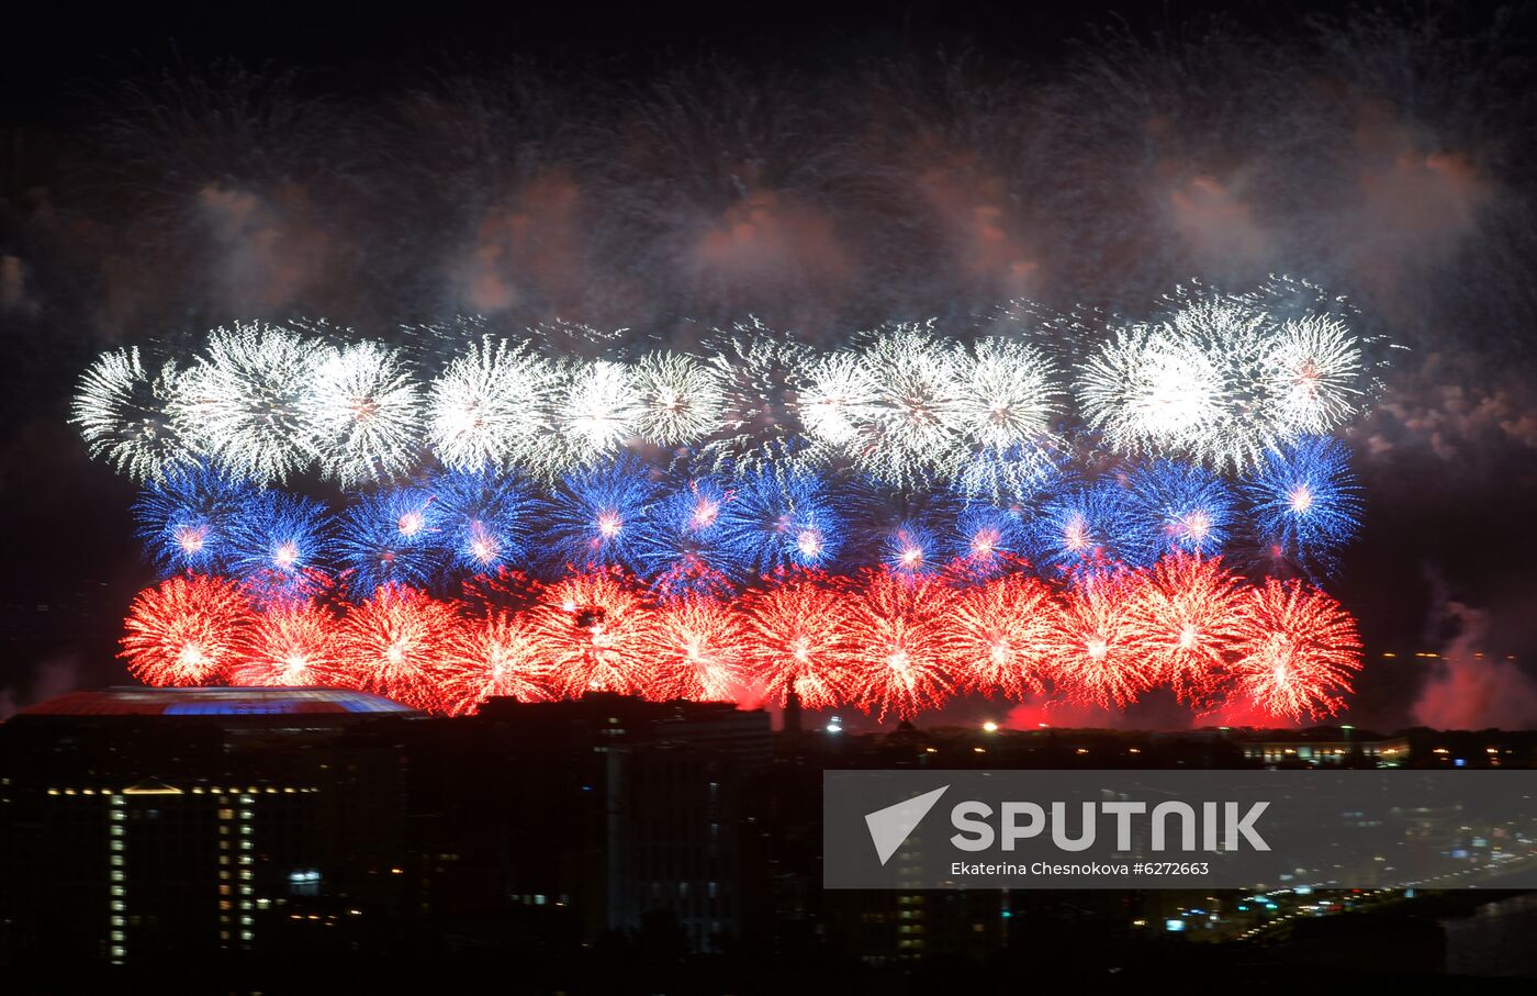
<svg viewBox="0 0 1537 996"><path fill-rule="evenodd" d="M346 741L412 715L332 689L111 689L25 710L0 727L9 945L211 958L303 944L294 919L335 924L343 895L355 918L378 908L366 865L400 844L403 778L395 752ZM390 784L393 805L377 798Z"/></svg>

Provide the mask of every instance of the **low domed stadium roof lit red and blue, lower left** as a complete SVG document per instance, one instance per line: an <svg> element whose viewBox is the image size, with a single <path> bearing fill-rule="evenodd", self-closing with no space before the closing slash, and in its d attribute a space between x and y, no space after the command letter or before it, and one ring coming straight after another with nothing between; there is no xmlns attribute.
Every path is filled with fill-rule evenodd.
<svg viewBox="0 0 1537 996"><path fill-rule="evenodd" d="M23 716L294 716L410 715L417 710L352 689L144 689L71 692Z"/></svg>

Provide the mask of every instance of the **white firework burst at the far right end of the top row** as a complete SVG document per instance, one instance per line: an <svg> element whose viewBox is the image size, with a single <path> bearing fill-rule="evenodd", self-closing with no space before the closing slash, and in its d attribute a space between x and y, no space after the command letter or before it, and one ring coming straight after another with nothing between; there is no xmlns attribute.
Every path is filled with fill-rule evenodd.
<svg viewBox="0 0 1537 996"><path fill-rule="evenodd" d="M1268 338L1259 374L1285 435L1323 435L1356 415L1360 343L1330 315L1297 318Z"/></svg>

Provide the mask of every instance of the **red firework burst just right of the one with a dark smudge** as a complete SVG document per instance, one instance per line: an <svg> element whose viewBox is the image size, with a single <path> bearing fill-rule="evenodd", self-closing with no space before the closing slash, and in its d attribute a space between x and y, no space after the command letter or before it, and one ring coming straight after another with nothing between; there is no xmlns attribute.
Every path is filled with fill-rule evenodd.
<svg viewBox="0 0 1537 996"><path fill-rule="evenodd" d="M707 598L681 598L656 610L644 630L653 699L735 701L742 692L747 630L733 609Z"/></svg>

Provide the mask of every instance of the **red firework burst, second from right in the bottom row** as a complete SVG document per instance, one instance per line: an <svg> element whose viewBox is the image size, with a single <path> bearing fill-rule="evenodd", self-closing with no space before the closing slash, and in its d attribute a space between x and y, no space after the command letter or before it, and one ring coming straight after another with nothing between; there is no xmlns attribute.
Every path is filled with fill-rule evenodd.
<svg viewBox="0 0 1537 996"><path fill-rule="evenodd" d="M1140 652L1182 702L1211 706L1239 636L1245 589L1220 561L1171 555L1153 567L1131 603Z"/></svg>

